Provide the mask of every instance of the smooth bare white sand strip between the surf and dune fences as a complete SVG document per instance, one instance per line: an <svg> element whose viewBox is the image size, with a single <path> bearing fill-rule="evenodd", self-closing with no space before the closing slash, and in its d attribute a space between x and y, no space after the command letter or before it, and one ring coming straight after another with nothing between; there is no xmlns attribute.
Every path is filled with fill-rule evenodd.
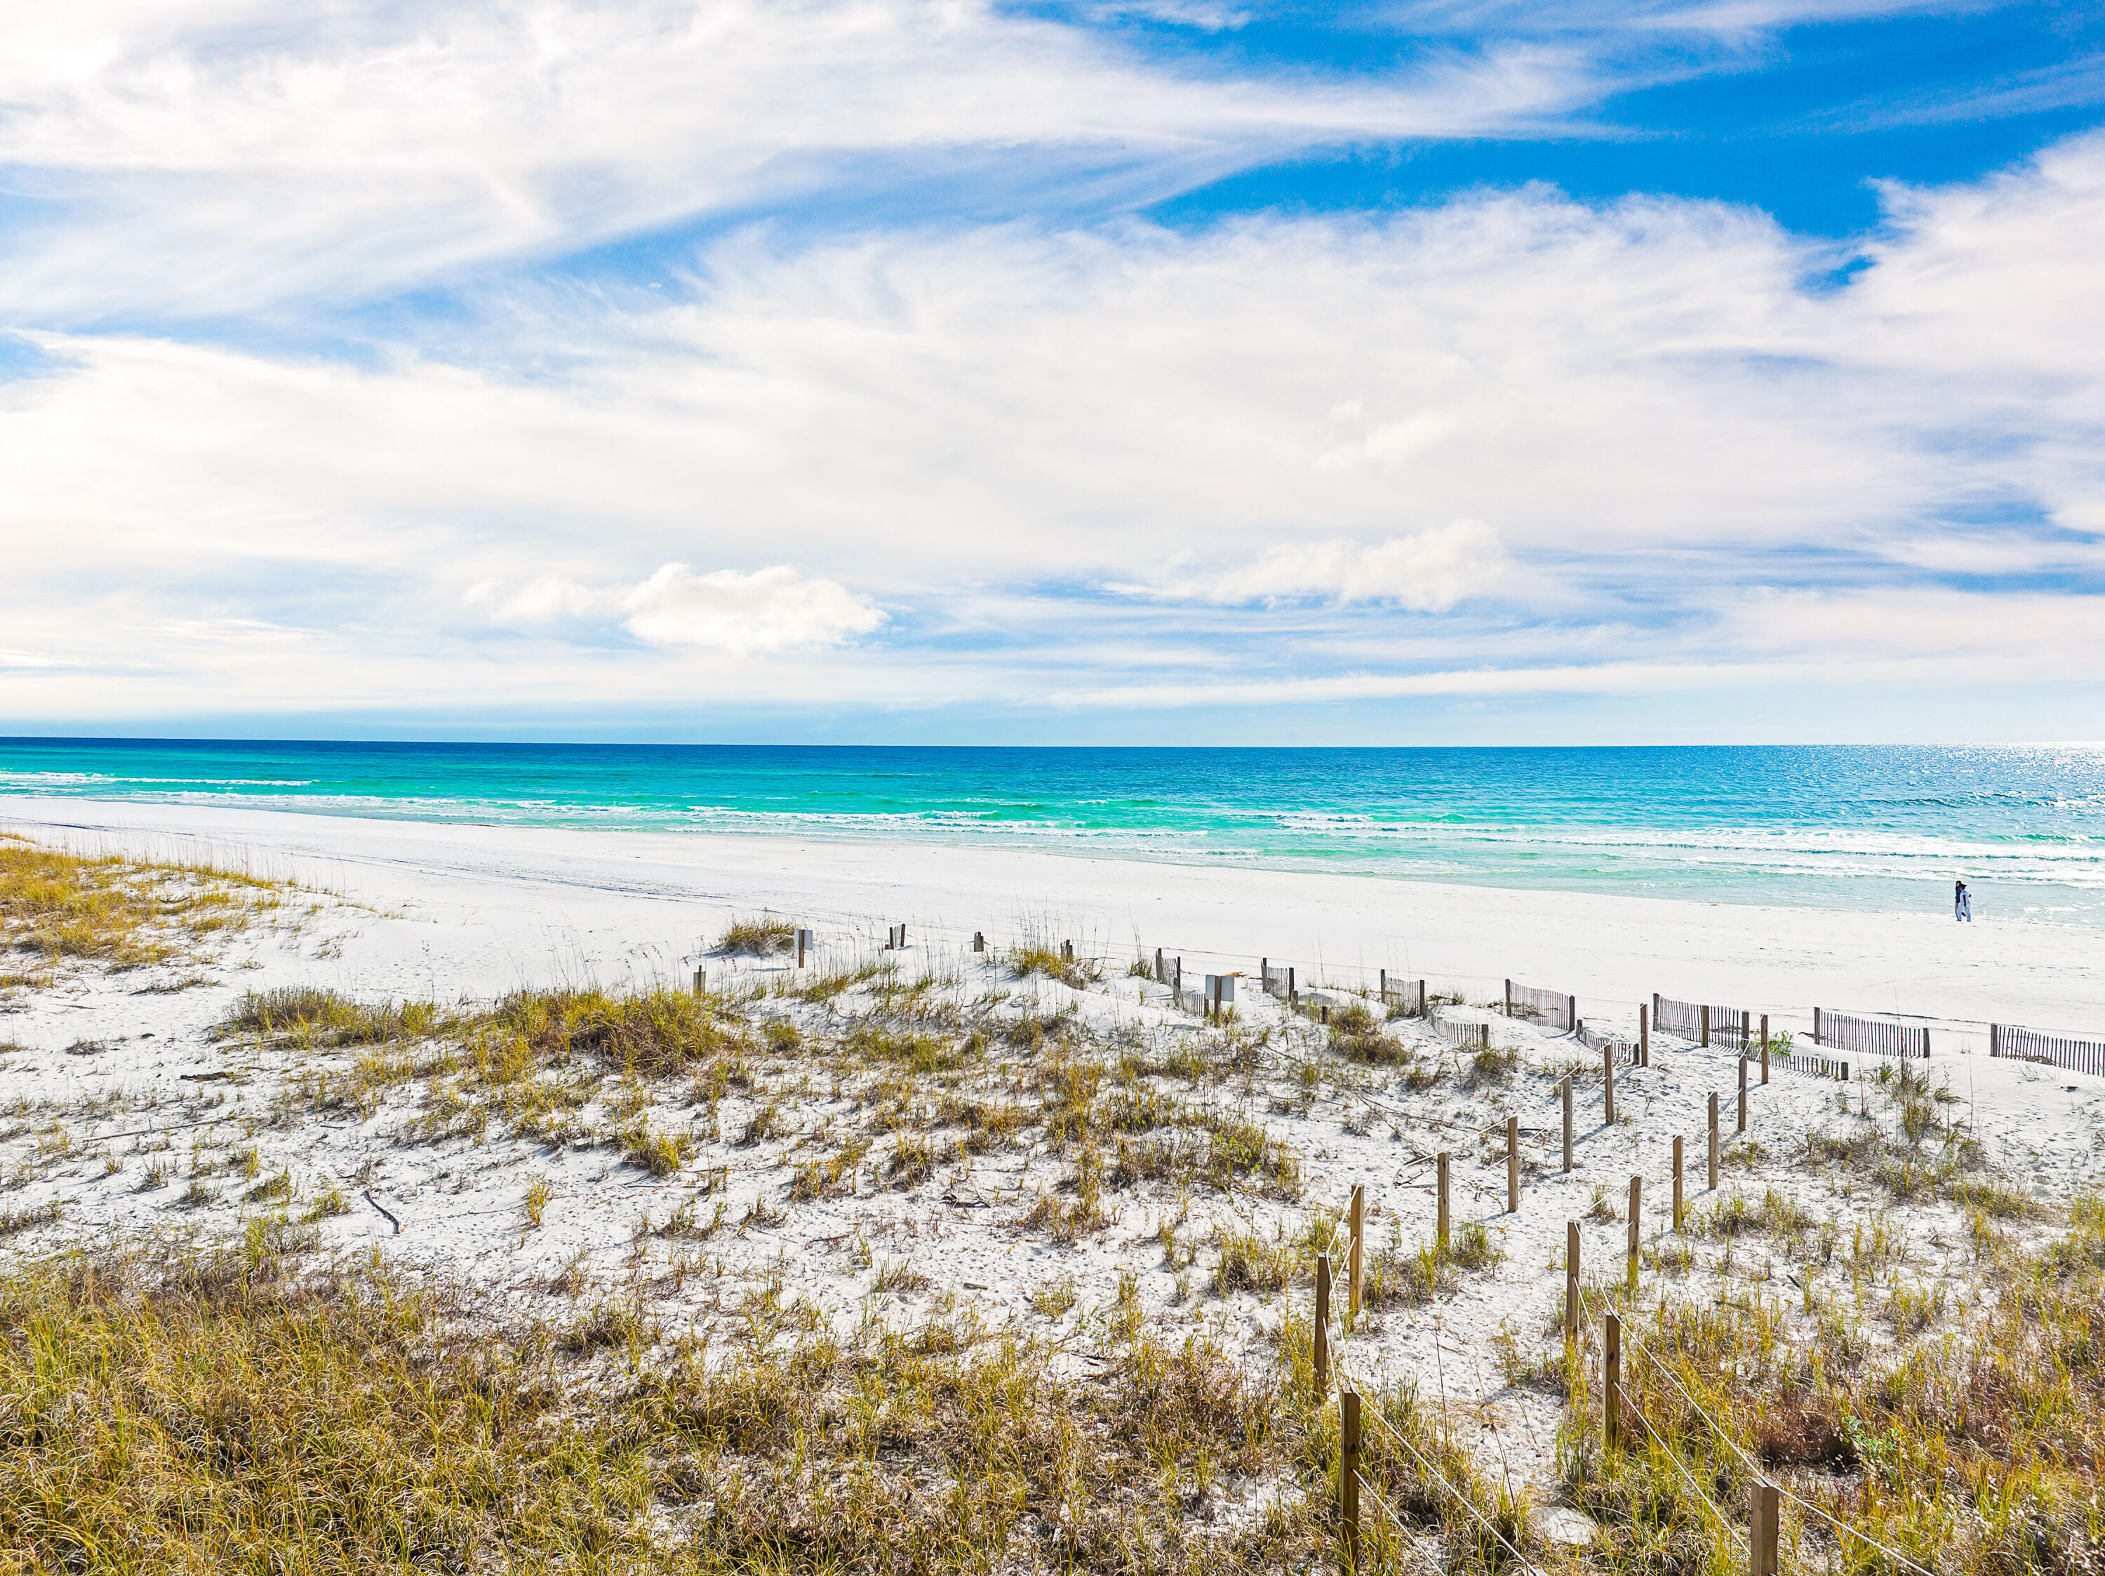
<svg viewBox="0 0 2105 1576"><path fill-rule="evenodd" d="M989 945L1076 938L1126 962L1162 947L1198 972L1427 978L1471 997L1501 981L1566 991L1583 1016L1631 1023L1652 991L1777 1016L1815 1006L1945 1027L2105 1033L2105 947L2084 926L1945 913L1791 909L1593 896L1360 873L1208 869L1048 850L773 833L461 825L236 806L17 797L0 829L133 852L189 846L263 861L383 913L448 928L444 959L379 947L362 989L497 995L552 974L678 978L733 913L773 909L840 936ZM429 936L427 936L429 938ZM417 976L423 978L417 978Z"/></svg>

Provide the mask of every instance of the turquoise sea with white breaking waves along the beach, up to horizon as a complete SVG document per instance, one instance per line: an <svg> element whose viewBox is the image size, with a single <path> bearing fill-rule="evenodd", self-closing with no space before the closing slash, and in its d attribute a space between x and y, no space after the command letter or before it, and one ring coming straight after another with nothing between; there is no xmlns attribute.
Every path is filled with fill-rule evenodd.
<svg viewBox="0 0 2105 1576"><path fill-rule="evenodd" d="M2105 749L0 739L4 795L756 831L2105 924ZM4 804L0 804L4 816Z"/></svg>

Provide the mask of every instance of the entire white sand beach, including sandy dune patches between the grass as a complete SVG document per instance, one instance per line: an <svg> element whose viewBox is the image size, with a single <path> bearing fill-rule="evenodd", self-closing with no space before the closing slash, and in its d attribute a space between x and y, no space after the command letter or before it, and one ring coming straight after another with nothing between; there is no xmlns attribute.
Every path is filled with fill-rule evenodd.
<svg viewBox="0 0 2105 1576"><path fill-rule="evenodd" d="M1267 1353L1305 1286L1212 1292L1208 1267L1234 1233L1278 1241L1311 1212L1341 1208L1360 1185L1370 1244L1410 1248L1434 1229L1434 1157L1452 1153L1457 1225L1482 1223L1499 1258L1425 1307L1362 1321L1343 1361L1366 1382L1410 1378L1467 1403L1486 1460L1547 1494L1560 1403L1503 1376L1501 1351L1539 1345L1562 1296L1568 1220L1585 1220L1589 1273L1619 1275L1631 1176L1646 1178L1646 1252L1663 1252L1669 1149L1686 1140L1690 1208L1720 1195L1777 1193L1810 1216L1848 1227L1888 1223L1913 1244L1913 1275L1949 1286L1951 1307L1989 1296L1960 1252L1962 1210L1934 1195L1905 1208L1850 1174L1806 1164L1815 1134L1846 1138L1894 1128L1878 1058L1857 1077L1775 1071L1749 1096L1735 1132L1737 1056L1655 1039L1650 1067L1617 1073L1619 1119L1604 1124L1600 1056L1566 1033L1497 1014L1492 1044L1507 1071L1471 1073L1469 1056L1419 1021L1387 1025L1431 1069L1356 1067L1326 1031L1257 989L1261 957L1297 966L1307 985L1372 985L1387 968L1434 991L1495 999L1503 978L1570 991L1587 1021L1636 1029L1652 991L1772 1014L1804 1035L1810 1008L1909 1014L1932 1033L1926 1065L1962 1136L1998 1176L2050 1208L2105 1178L2105 1079L1991 1060L1991 1018L2105 1031L2105 949L2078 926L1970 926L1943 913L1842 913L1591 898L1337 875L1118 863L977 848L798 842L743 835L638 835L410 821L301 816L217 806L11 800L0 829L74 850L206 858L290 877L320 896L297 928L236 936L202 981L141 993L141 972L74 970L17 991L0 1016L0 1100L25 1113L0 1149L15 1172L13 1208L57 1208L17 1231L11 1254L116 1244L141 1233L236 1231L238 1187L192 1197L143 1172L168 1155L253 1147L253 1174L286 1172L297 1197L335 1189L345 1214L320 1223L333 1248L381 1250L402 1265L465 1275L495 1305L537 1309L587 1286L648 1296L688 1328L724 1319L735 1288L775 1284L815 1317L853 1326L871 1305L911 1319L937 1296L962 1296L996 1321L1052 1319L1082 1330L1122 1288L1162 1328L1204 1330L1250 1363ZM817 1050L781 1056L751 1086L707 1107L682 1088L644 1090L625 1119L686 1132L690 1153L669 1174L623 1164L606 1138L613 1084L579 1113L575 1140L549 1143L501 1124L434 1122L442 1077L406 1079L360 1111L295 1098L299 1079L343 1075L356 1050L253 1044L215 1031L244 991L318 985L362 999L488 1002L552 985L686 989L709 970L756 1025L794 1025L819 1048L853 1025L899 1023L893 997L844 987L798 999L787 962L709 955L735 915L773 911L810 926L827 968L882 964L922 981L914 1023L979 1027L996 1050L947 1088L1010 1090L1031 1023L1065 1025L1082 1044L1128 1058L1128 1082L1175 1092L1189 1111L1257 1124L1292 1157L1299 1187L1240 1176L1229 1187L1139 1180L1105 1191L1101 1223L1044 1231L1044 1199L1076 1189L1071 1157L1025 1128L983 1153L949 1143L918 1172L897 1157L905 1138L865 1130L863 1069ZM880 953L893 924L909 945ZM985 955L968 951L985 932ZM1008 947L1071 938L1103 959L1101 981L1074 987L1017 976ZM1238 1035L1257 1037L1242 1071L1162 1073L1181 1048L1242 1044L1126 976L1156 949L1183 957L1187 978L1240 972ZM941 1014L935 1006L939 1004ZM726 1008L728 1010L728 1008ZM884 1016L893 1014L893 1016ZM947 1014L947 1016L943 1016ZM785 1042L787 1044L787 1042ZM844 1044L844 1042L842 1042ZM1027 1044L1036 1044L1029 1037ZM1006 1050L1004 1046L1019 1046ZM86 1048L86 1050L82 1050ZM1139 1058L1139 1060L1135 1060ZM1221 1063L1227 1067L1229 1063ZM1156 1071L1132 1073L1130 1067ZM1890 1067L1888 1067L1890 1071ZM1558 1155L1558 1079L1579 1086L1577 1168ZM1726 1176L1703 1178L1705 1105L1724 1107ZM989 1094L987 1098L996 1098ZM640 1111L640 1115L638 1115ZM1524 1197L1505 1208L1505 1117L1524 1132ZM1200 1117L1194 1117L1200 1119ZM419 1126L421 1124L421 1126ZM38 1161L63 1128L61 1161ZM46 1134L46 1136L38 1136ZM842 1138L853 1138L842 1147ZM941 1122L937 1138L943 1138ZM156 1159L160 1155L162 1159ZM796 1199L800 1168L846 1155L846 1183ZM890 1155L893 1159L886 1159ZM890 1172L886 1170L890 1166ZM905 1174L905 1180L899 1180ZM545 1180L545 1218L522 1197ZM1038 1210L1038 1214L1034 1214ZM686 1216L680 1216L686 1212ZM714 1212L720 1229L682 1241L667 1223ZM2012 1227L2019 1235L2044 1227ZM655 1233L655 1235L653 1235ZM1166 1248L1166 1244L1170 1244ZM1705 1258L1705 1252L1709 1258ZM1695 1252L1701 1271L1716 1244ZM911 1265L922 1290L878 1292L884 1265ZM1690 1273L1686 1265L1678 1273ZM1726 1250L1724 1275L1789 1273L1762 1248ZM556 1292L552 1288L564 1286ZM1050 1296L1048 1288L1067 1288ZM1071 1307L1063 1307L1071 1305ZM1059 1313L1046 1309L1059 1307ZM1307 1309L1299 1309L1301 1317ZM1501 1345L1503 1342L1503 1345ZM1252 1486L1250 1494L1259 1490ZM1255 1498L1248 1509L1255 1515Z"/></svg>

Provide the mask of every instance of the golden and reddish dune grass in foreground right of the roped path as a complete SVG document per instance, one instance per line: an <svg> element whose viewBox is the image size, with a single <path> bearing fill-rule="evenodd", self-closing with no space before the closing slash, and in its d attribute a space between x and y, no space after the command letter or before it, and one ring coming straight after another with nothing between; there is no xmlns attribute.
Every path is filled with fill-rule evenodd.
<svg viewBox="0 0 2105 1576"><path fill-rule="evenodd" d="M1739 1229L1796 1225L1756 1225L1764 1212ZM1859 1286L1888 1277L1882 1307L1808 1284L1789 1302L1627 1311L1625 1393L1663 1443L1633 1429L1606 1456L1598 1363L1577 1359L1560 1458L1602 1526L1598 1570L1741 1570L1749 1460L1939 1576L2105 1568L2105 1206L2080 1201L2073 1229L2029 1252L1979 1239L1996 1290L1972 1311L1941 1281L1899 1279L1861 1235L1842 1262ZM1901 1570L1791 1504L1785 1542L1804 1570Z"/></svg>

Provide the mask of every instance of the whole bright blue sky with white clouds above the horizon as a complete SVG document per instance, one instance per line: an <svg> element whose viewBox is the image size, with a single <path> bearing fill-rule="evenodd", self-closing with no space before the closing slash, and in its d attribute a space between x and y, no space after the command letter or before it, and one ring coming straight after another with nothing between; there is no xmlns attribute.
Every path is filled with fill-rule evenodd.
<svg viewBox="0 0 2105 1576"><path fill-rule="evenodd" d="M2105 736L2105 8L0 19L0 732Z"/></svg>

